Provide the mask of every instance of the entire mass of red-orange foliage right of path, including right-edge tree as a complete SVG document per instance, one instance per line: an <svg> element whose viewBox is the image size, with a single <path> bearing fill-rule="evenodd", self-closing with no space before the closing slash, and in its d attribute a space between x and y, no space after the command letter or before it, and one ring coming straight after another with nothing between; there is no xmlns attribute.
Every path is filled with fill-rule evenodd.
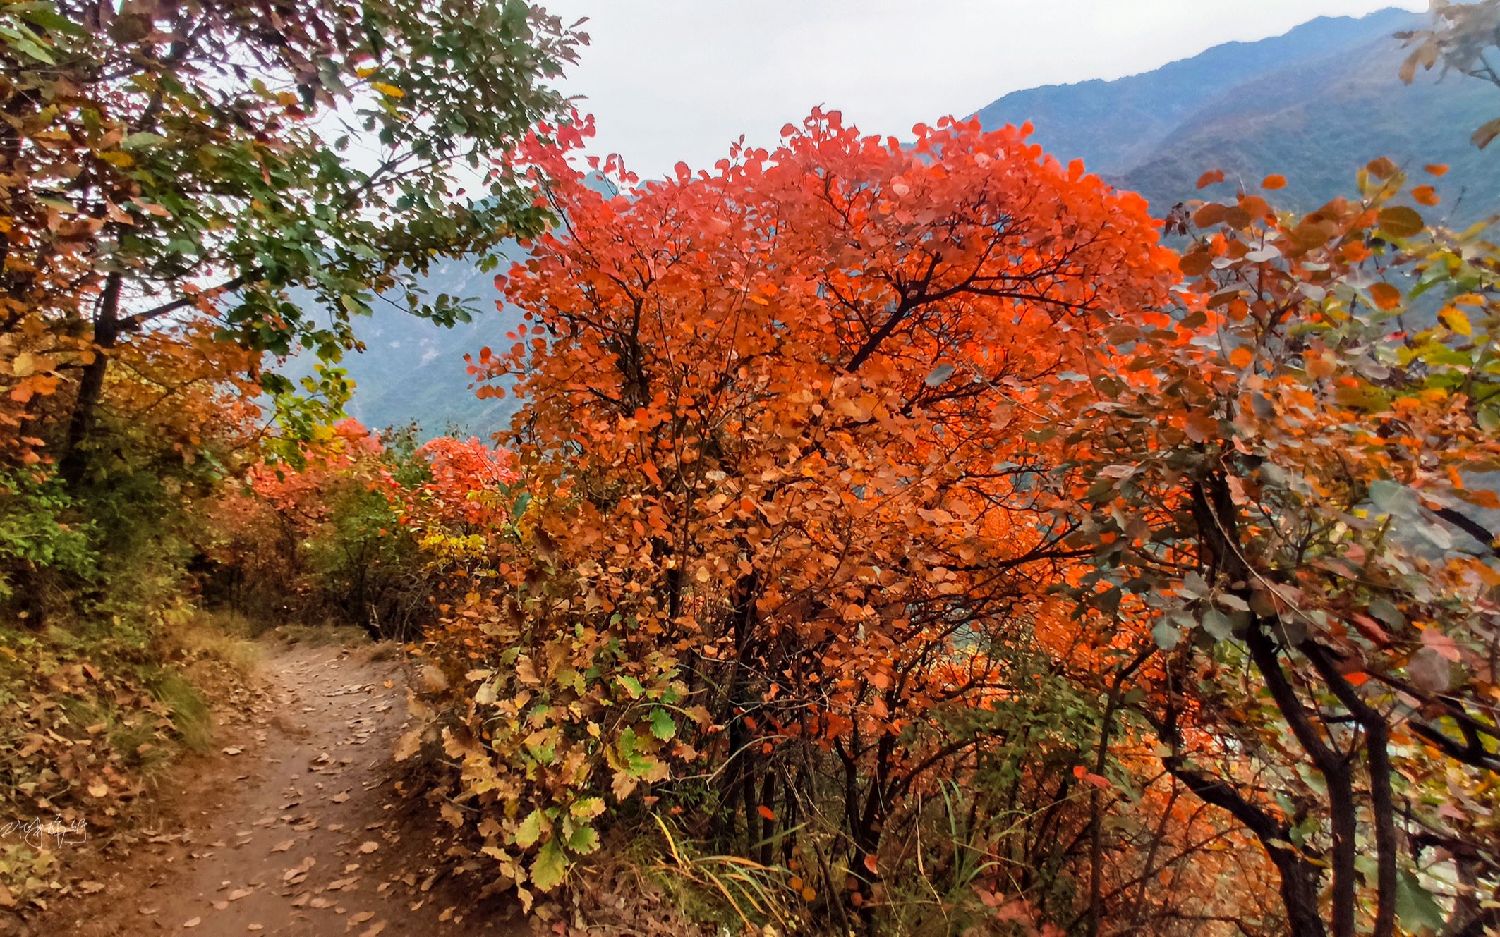
<svg viewBox="0 0 1500 937"><path fill-rule="evenodd" d="M646 807L783 927L1414 933L1434 861L1485 927L1482 228L1377 160L1179 255L1024 127L814 111L609 193L548 130L561 223L471 361L525 495L423 651L524 900Z"/></svg>

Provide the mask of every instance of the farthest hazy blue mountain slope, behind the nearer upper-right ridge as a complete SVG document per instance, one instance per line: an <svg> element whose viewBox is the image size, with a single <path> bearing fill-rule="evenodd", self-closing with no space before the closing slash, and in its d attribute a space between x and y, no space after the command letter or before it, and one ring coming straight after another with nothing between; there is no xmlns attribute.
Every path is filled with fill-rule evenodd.
<svg viewBox="0 0 1500 937"><path fill-rule="evenodd" d="M1149 159L1185 120L1228 88L1365 46L1414 21L1413 13L1400 9L1359 19L1318 16L1282 36L1216 45L1128 78L1014 91L978 111L978 117L987 127L1029 120L1034 138L1050 153L1082 157L1092 172L1119 174Z"/></svg>

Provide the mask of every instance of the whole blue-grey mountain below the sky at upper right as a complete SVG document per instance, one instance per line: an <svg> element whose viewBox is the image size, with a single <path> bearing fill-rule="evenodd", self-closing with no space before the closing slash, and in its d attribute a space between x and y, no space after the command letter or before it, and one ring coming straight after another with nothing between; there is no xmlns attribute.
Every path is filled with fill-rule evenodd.
<svg viewBox="0 0 1500 937"><path fill-rule="evenodd" d="M1230 42L1152 72L1014 91L981 108L984 126L1030 121L1034 139L1059 159L1082 157L1152 211L1194 196L1206 169L1246 186L1281 172L1278 201L1314 208L1353 190L1376 156L1398 163L1449 163L1438 219L1470 222L1500 211L1500 151L1468 142L1500 112L1494 87L1449 75L1396 75L1392 33L1425 21L1383 9L1318 16L1281 36ZM1461 196L1461 198L1460 198Z"/></svg>

